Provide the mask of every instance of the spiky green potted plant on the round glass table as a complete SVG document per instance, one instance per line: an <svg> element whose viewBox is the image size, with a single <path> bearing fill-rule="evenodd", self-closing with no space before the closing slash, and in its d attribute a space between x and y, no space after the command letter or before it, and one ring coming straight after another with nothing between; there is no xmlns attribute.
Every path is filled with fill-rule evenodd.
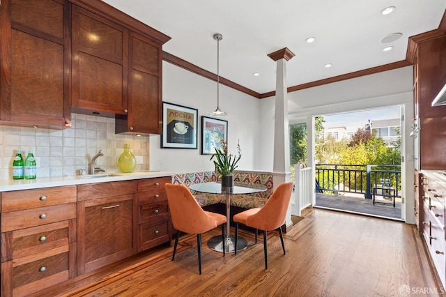
<svg viewBox="0 0 446 297"><path fill-rule="evenodd" d="M233 186L233 171L238 167L237 163L242 157L240 142L237 142L237 155L228 154L228 144L222 139L220 141L222 144L221 148L215 148L215 155L210 157L212 160L214 157L215 172L217 172L218 177L222 178L222 187L230 188Z"/></svg>

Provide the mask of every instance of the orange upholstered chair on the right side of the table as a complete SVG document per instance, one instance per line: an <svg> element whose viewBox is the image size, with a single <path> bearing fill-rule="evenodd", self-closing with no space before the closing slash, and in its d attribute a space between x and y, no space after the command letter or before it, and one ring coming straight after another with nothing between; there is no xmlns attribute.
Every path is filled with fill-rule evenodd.
<svg viewBox="0 0 446 297"><path fill-rule="evenodd" d="M285 254L284 236L282 234L282 225L285 223L286 211L290 204L291 193L293 192L293 182L281 183L276 190L268 198L266 204L262 208L251 208L242 213L233 216L236 222L236 240L237 247L238 224L245 224L247 227L256 229L256 243L257 230L263 231L263 252L265 254L265 269L268 269L268 251L266 248L266 231L279 230L280 241L282 241L282 248ZM235 248L237 253L237 248Z"/></svg>

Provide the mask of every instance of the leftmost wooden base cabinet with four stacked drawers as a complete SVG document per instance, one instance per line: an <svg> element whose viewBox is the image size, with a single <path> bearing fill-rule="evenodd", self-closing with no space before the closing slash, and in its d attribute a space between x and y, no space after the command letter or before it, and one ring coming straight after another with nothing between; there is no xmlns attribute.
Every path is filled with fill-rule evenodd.
<svg viewBox="0 0 446 297"><path fill-rule="evenodd" d="M1 193L1 296L77 275L76 186Z"/></svg>

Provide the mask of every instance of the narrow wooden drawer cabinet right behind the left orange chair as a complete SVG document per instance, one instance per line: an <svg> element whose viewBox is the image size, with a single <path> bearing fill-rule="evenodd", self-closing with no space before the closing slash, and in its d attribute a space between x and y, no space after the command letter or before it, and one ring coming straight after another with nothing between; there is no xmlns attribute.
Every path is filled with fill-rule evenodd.
<svg viewBox="0 0 446 297"><path fill-rule="evenodd" d="M171 183L170 176L138 181L139 252L170 242L171 220L165 183Z"/></svg>

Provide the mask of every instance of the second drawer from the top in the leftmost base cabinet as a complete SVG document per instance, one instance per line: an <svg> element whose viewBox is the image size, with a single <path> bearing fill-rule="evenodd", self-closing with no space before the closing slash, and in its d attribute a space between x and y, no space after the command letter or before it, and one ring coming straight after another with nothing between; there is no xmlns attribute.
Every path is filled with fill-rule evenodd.
<svg viewBox="0 0 446 297"><path fill-rule="evenodd" d="M76 218L76 203L1 213L1 232L40 226Z"/></svg>

